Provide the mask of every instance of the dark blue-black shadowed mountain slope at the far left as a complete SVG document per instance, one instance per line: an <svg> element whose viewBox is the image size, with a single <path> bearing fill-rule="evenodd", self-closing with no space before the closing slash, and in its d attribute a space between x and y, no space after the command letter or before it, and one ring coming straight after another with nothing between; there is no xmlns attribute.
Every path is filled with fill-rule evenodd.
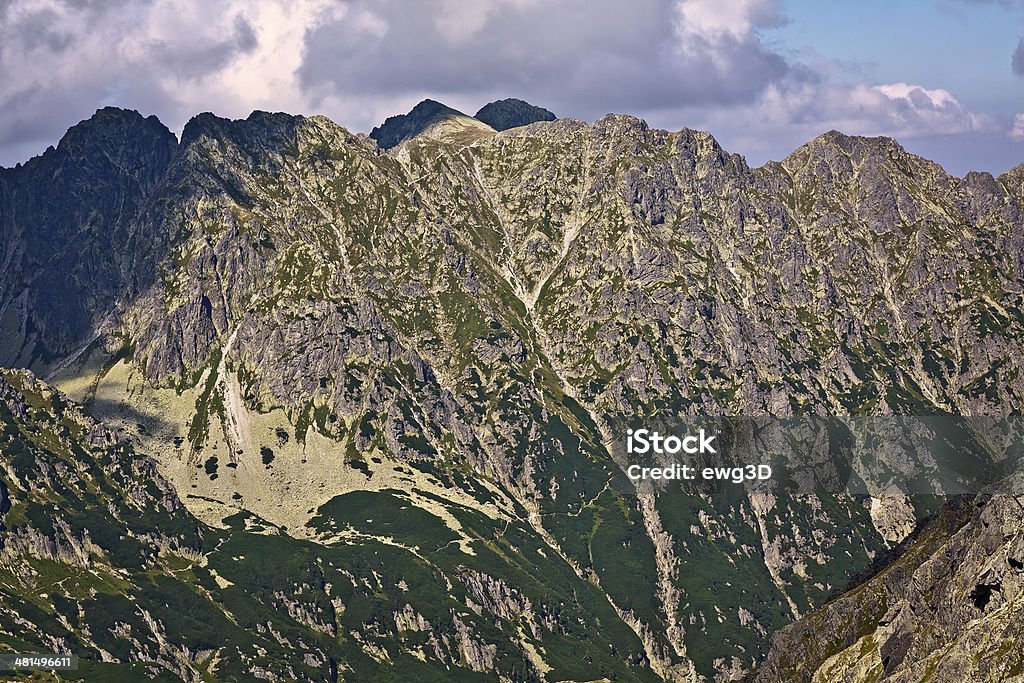
<svg viewBox="0 0 1024 683"><path fill-rule="evenodd" d="M48 367L98 332L126 279L132 220L177 139L156 117L106 108L0 176L0 366Z"/></svg>

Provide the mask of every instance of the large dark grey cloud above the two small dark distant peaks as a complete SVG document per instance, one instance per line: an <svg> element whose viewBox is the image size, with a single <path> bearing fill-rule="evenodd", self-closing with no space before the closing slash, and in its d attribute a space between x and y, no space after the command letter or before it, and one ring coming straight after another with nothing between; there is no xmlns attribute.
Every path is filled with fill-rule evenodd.
<svg viewBox="0 0 1024 683"><path fill-rule="evenodd" d="M668 0L508 1L465 14L469 3L356 0L309 34L299 77L314 93L507 94L578 116L748 102L798 72L755 31L778 20L774 3L745 4L750 27L733 33L687 27Z"/></svg>

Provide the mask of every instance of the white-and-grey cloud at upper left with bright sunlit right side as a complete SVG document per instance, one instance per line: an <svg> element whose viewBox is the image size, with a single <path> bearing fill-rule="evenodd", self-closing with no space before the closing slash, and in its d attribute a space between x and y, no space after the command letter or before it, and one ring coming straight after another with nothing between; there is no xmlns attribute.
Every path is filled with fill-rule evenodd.
<svg viewBox="0 0 1024 683"><path fill-rule="evenodd" d="M331 0L9 0L0 7L0 163L106 104L180 128L207 110L301 111L303 37Z"/></svg>

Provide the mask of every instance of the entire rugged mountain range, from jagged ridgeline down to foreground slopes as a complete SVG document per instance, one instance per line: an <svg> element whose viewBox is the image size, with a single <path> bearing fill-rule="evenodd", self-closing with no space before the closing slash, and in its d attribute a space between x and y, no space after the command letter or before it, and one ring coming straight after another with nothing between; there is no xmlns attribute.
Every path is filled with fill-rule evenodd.
<svg viewBox="0 0 1024 683"><path fill-rule="evenodd" d="M615 442L1019 415L1022 211L1024 165L835 131L750 168L521 100L369 137L100 110L0 170L0 646L85 680L1015 680L1017 498L630 494Z"/></svg>

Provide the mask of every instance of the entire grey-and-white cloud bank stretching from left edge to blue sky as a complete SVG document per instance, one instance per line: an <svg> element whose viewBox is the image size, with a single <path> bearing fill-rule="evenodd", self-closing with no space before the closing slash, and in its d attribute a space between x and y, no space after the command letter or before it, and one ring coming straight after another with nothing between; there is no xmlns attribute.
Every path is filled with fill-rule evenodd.
<svg viewBox="0 0 1024 683"><path fill-rule="evenodd" d="M593 119L756 101L813 78L761 33L780 0L7 0L0 163L106 104L323 113L356 130L426 96Z"/></svg>

